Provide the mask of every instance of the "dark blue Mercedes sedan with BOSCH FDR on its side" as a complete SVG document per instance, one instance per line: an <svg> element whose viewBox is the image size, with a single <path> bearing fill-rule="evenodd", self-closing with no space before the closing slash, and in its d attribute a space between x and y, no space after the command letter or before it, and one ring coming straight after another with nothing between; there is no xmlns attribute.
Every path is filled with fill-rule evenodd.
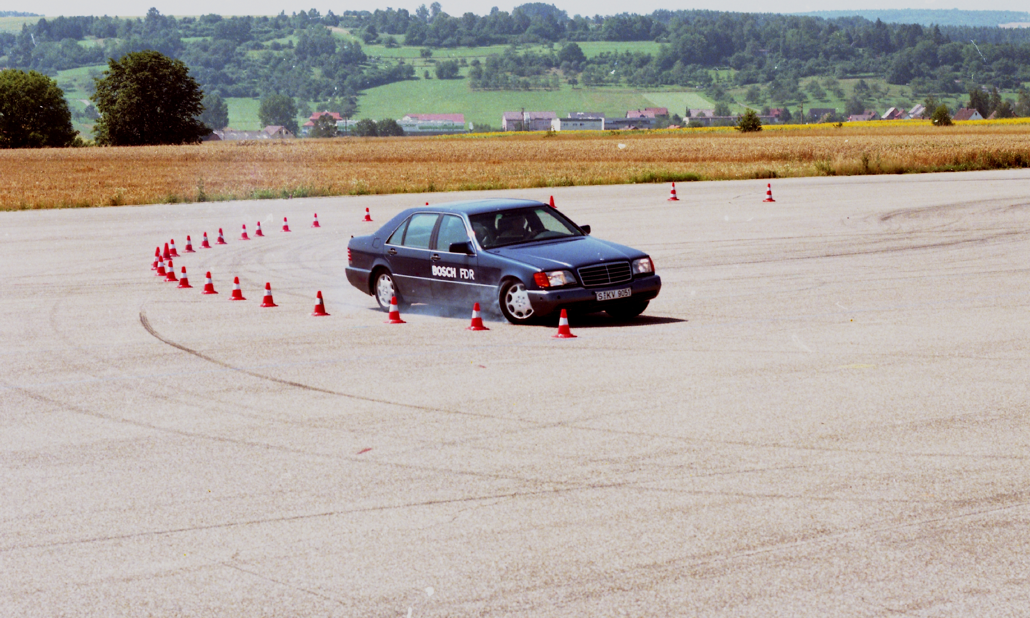
<svg viewBox="0 0 1030 618"><path fill-rule="evenodd" d="M473 200L409 208L350 239L347 279L384 310L402 304L501 310L516 324L560 309L629 319L658 296L651 258L590 236L531 200ZM494 304L495 303L495 304Z"/></svg>

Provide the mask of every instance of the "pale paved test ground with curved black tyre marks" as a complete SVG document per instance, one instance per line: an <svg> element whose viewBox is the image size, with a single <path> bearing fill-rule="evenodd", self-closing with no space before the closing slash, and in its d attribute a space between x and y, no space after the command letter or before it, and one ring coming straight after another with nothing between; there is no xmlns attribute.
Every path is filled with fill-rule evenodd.
<svg viewBox="0 0 1030 618"><path fill-rule="evenodd" d="M772 187L0 213L0 615L1026 616L1030 171ZM400 209L551 194L654 256L633 324L344 278Z"/></svg>

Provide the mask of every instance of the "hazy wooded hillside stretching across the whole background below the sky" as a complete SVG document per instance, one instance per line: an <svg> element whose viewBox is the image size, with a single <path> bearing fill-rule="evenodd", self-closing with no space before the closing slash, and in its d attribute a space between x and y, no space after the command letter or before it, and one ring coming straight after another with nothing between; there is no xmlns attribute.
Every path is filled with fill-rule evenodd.
<svg viewBox="0 0 1030 618"><path fill-rule="evenodd" d="M332 28L347 29L353 38L334 36ZM176 19L150 9L142 19L44 19L19 34L0 33L0 66L54 73L150 48L182 59L206 92L228 97L280 93L307 101L353 100L364 89L415 78L411 65L370 57L363 41L427 52L557 44L545 54L509 47L470 68L470 84L479 88L525 88L535 77L545 87L560 78L595 87L701 87L718 96L721 87L713 85L711 69L732 68L734 84L767 84L770 103L789 104L804 100L799 79L810 76L881 76L927 95L980 87L1016 90L1030 81L1026 29L711 10L570 18L543 3L523 4L510 13L493 9L460 16L447 14L435 2L413 13L302 10L277 16ZM577 41L660 45L654 54L587 59L573 44ZM457 77L457 67L438 76Z"/></svg>

